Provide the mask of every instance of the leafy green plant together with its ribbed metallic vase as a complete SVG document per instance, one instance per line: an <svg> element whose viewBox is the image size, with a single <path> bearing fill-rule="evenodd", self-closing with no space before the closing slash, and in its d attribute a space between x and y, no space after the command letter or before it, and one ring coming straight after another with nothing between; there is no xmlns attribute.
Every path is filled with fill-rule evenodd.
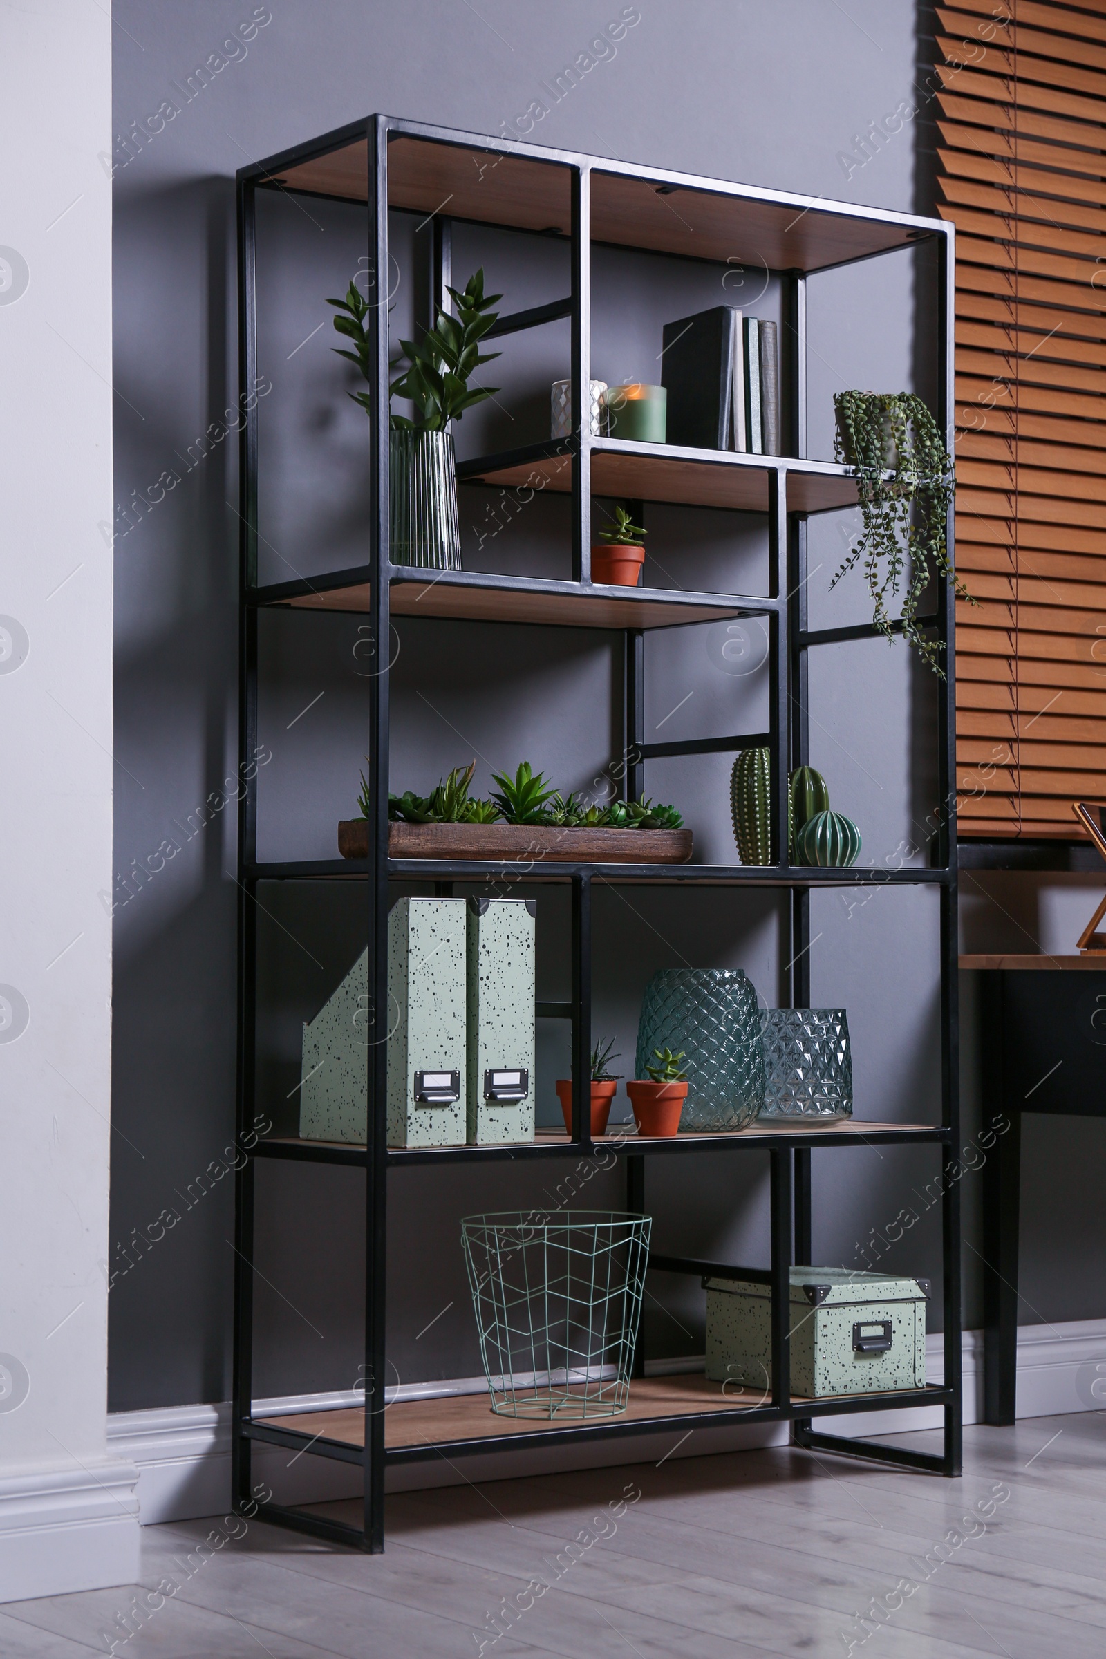
<svg viewBox="0 0 1106 1659"><path fill-rule="evenodd" d="M461 569L461 531L458 524L458 484L449 421L461 420L468 408L483 403L497 387L471 387L473 373L491 363L499 352L479 350L479 342L494 325L492 305L501 294L484 294L484 270L476 270L464 289L448 290L456 309L449 315L441 305L434 327L418 340L400 340L401 372L391 380L390 397L410 398L415 415L391 415L390 426L390 556L393 564L418 564L429 569ZM370 302L355 282L345 299L330 299L338 315L333 325L352 342L353 350L335 347L338 357L355 363L368 382L368 392L350 397L373 413L373 350L366 319Z"/></svg>

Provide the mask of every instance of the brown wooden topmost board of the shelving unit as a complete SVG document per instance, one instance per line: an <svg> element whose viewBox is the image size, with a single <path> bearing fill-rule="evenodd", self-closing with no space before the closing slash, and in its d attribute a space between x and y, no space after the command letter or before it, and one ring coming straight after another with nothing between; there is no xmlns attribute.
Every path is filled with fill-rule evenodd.
<svg viewBox="0 0 1106 1659"><path fill-rule="evenodd" d="M496 151L410 134L388 144L388 206L418 214L448 209L453 219L509 226L547 236L570 234L572 196L567 163L574 156L516 146ZM527 149L531 146L526 146ZM297 166L277 168L274 182L342 201L368 199L368 143L355 139ZM907 247L925 236L917 219L866 214L864 209L809 196L743 194L693 174L592 171L592 241L741 260L758 270L822 270L851 259Z"/></svg>

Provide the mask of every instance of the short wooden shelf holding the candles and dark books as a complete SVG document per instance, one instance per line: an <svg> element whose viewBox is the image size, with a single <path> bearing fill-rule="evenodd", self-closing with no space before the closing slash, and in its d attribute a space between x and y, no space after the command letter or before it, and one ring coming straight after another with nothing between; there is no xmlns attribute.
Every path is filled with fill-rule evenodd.
<svg viewBox="0 0 1106 1659"><path fill-rule="evenodd" d="M776 460L728 450L673 450L663 443L602 440L592 448L592 493L630 501L668 501L680 506L768 513L768 479ZM834 461L788 461L788 509L829 513L856 506L856 479ZM572 489L572 456L549 445L511 455L458 461L458 483L504 489Z"/></svg>

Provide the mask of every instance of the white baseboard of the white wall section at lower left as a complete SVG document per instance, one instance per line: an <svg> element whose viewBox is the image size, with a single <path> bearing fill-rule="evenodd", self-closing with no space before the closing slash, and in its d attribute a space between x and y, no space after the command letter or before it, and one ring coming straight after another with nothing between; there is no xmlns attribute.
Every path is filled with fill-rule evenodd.
<svg viewBox="0 0 1106 1659"><path fill-rule="evenodd" d="M118 1457L2 1477L0 1603L133 1584L138 1480L138 1468Z"/></svg>

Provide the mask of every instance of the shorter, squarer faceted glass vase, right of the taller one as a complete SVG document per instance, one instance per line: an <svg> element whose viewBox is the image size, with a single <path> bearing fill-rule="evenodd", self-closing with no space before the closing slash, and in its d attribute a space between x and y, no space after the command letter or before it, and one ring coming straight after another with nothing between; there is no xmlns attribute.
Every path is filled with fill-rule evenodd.
<svg viewBox="0 0 1106 1659"><path fill-rule="evenodd" d="M763 1118L851 1118L852 1050L844 1009L764 1009Z"/></svg>

